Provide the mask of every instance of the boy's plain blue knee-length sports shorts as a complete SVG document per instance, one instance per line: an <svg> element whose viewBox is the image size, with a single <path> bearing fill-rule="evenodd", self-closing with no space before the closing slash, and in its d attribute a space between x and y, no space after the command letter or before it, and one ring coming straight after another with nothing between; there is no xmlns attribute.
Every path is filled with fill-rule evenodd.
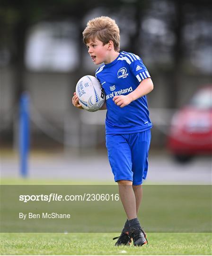
<svg viewBox="0 0 212 256"><path fill-rule="evenodd" d="M107 134L106 148L115 182L132 181L141 185L148 170L148 152L150 149L150 129L130 134Z"/></svg>

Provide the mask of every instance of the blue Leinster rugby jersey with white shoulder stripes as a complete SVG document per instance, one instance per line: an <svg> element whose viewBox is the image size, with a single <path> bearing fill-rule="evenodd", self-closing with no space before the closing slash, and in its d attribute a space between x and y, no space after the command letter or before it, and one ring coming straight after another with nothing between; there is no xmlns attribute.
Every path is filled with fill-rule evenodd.
<svg viewBox="0 0 212 256"><path fill-rule="evenodd" d="M146 96L124 108L113 101L114 96L129 94L143 79L150 77L139 56L123 51L113 62L102 64L96 77L106 94L106 134L141 132L152 127Z"/></svg>

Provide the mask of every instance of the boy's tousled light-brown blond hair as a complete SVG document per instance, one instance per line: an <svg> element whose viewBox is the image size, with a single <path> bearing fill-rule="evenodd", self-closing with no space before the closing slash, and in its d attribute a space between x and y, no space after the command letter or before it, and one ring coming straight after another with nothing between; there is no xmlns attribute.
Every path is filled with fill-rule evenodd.
<svg viewBox="0 0 212 256"><path fill-rule="evenodd" d="M90 40L94 41L95 37L97 37L98 40L102 41L103 45L106 45L110 40L113 41L115 51L119 51L119 27L112 18L101 16L89 20L82 35L85 45Z"/></svg>

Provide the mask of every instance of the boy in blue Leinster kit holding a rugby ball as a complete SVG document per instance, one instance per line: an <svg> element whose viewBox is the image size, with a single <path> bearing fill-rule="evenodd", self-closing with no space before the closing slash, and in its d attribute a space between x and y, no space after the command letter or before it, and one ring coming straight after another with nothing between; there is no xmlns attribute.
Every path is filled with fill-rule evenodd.
<svg viewBox="0 0 212 256"><path fill-rule="evenodd" d="M99 17L88 21L83 41L95 64L102 64L96 77L106 93L106 147L108 159L119 186L127 220L115 246L147 243L137 219L142 197L142 179L148 169L150 128L146 94L153 83L139 56L119 52L120 35L115 20ZM72 103L79 104L76 92ZM116 238L114 238L116 239Z"/></svg>

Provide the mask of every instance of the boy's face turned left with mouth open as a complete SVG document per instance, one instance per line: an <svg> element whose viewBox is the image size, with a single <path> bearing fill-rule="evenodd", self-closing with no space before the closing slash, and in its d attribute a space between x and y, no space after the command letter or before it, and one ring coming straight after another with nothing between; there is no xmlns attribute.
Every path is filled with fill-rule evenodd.
<svg viewBox="0 0 212 256"><path fill-rule="evenodd" d="M88 54L91 56L92 61L98 65L101 63L106 63L108 55L108 44L103 46L102 41L95 38L94 41L89 40L86 45L88 48Z"/></svg>

